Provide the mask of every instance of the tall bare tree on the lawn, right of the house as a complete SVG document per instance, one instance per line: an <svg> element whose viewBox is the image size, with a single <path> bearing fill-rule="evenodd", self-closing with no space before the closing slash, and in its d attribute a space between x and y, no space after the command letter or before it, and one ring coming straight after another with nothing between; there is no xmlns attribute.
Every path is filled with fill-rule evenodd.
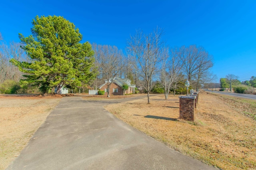
<svg viewBox="0 0 256 170"><path fill-rule="evenodd" d="M165 50L162 35L163 30L160 28L156 28L149 34L139 30L128 41L128 53L134 61L132 63L136 79L148 93L148 104L150 103L149 93L153 88L153 76L159 70L161 54Z"/></svg>

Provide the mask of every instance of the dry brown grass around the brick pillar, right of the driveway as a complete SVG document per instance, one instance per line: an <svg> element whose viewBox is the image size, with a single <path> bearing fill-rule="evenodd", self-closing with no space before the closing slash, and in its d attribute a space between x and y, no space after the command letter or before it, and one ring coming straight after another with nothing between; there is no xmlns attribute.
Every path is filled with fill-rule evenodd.
<svg viewBox="0 0 256 170"><path fill-rule="evenodd" d="M256 169L255 100L200 94L195 121L179 120L179 98L164 95L105 106L172 149L225 170ZM126 108L126 109L124 109ZM250 113L250 114L247 114Z"/></svg>

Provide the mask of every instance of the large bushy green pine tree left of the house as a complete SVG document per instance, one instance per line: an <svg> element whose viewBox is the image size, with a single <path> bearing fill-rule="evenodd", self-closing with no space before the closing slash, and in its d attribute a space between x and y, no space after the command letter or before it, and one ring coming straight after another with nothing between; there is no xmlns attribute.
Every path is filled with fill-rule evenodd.
<svg viewBox="0 0 256 170"><path fill-rule="evenodd" d="M32 35L19 34L30 62L10 60L26 73L24 81L44 93L56 87L59 94L63 86L81 86L95 77L94 51L90 43L79 43L82 34L73 23L60 16L36 16L32 24Z"/></svg>

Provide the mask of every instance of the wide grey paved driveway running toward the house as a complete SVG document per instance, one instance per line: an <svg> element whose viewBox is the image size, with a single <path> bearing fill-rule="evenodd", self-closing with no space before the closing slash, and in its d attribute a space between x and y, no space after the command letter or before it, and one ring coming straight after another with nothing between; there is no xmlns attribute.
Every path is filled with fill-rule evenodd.
<svg viewBox="0 0 256 170"><path fill-rule="evenodd" d="M169 149L102 107L128 100L62 98L7 170L216 170Z"/></svg>

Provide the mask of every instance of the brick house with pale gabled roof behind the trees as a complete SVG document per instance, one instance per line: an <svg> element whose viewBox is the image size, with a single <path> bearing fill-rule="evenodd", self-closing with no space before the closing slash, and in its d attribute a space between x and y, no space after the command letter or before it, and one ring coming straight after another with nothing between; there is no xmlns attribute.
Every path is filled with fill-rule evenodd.
<svg viewBox="0 0 256 170"><path fill-rule="evenodd" d="M109 82L112 82L110 85L110 94L112 95L123 95L123 89L122 86L124 84L127 84L129 87L127 90L125 90L124 94L130 94L134 93L135 84L131 84L131 80L128 78L118 78L114 77L112 80L109 80ZM108 80L105 80L105 83L98 87L100 90L104 90L105 94L108 92Z"/></svg>

